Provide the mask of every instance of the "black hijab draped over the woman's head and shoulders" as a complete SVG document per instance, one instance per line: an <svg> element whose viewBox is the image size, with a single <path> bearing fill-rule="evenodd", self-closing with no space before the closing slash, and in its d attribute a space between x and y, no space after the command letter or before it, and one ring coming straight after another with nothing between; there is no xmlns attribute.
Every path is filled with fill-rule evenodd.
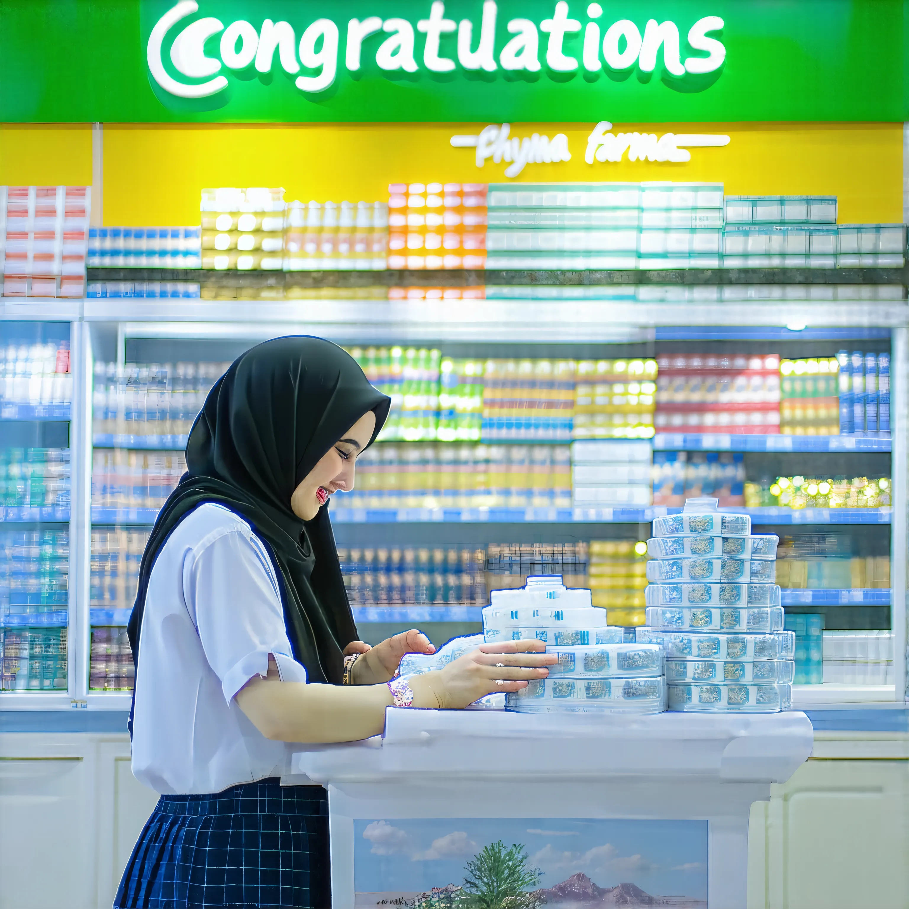
<svg viewBox="0 0 909 909"><path fill-rule="evenodd" d="M323 454L369 411L375 414L372 445L390 404L352 356L322 338L275 338L231 365L195 419L188 470L145 546L128 627L136 665L155 558L186 514L214 502L240 514L265 543L282 582L287 636L309 681L341 683L343 651L356 639L356 626L328 504L302 521L290 500Z"/></svg>

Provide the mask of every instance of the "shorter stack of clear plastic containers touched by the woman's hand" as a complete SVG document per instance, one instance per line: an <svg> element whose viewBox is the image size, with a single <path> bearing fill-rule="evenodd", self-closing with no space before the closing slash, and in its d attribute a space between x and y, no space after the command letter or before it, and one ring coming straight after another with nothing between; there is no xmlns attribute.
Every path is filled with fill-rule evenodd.
<svg viewBox="0 0 909 909"><path fill-rule="evenodd" d="M665 710L663 651L624 644L606 624L589 590L571 590L558 574L527 578L517 590L495 590L483 610L484 640L544 641L558 663L549 675L505 694L505 709L527 714L658 714Z"/></svg>

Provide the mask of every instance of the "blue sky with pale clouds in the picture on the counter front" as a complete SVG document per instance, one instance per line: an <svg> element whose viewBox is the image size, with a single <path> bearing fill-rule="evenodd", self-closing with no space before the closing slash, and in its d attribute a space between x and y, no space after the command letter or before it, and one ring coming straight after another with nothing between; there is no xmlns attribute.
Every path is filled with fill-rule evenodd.
<svg viewBox="0 0 909 909"><path fill-rule="evenodd" d="M354 822L355 890L422 892L461 884L486 844L524 844L542 887L583 872L660 896L707 898L707 822L419 818Z"/></svg>

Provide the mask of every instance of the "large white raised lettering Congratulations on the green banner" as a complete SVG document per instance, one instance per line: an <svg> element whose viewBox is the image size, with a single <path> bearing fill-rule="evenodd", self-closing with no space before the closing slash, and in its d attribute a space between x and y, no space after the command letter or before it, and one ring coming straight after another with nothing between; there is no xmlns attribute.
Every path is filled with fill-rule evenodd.
<svg viewBox="0 0 909 909"><path fill-rule="evenodd" d="M205 82L181 82L165 69L163 52L165 39L171 29L188 16L198 12L195 0L181 0L155 23L148 38L148 68L165 92L182 98L204 98L224 91L228 82L219 74L222 66L241 71L255 67L258 73L269 73L278 64L290 75L297 75L295 85L302 92L324 92L334 85L338 72L342 31L345 34L344 65L348 72L359 71L365 55L375 53L375 65L387 73L416 73L416 34L425 35L422 66L432 73L451 73L457 66L463 70L483 70L494 73L497 69L528 73L539 72L541 50L549 70L571 73L582 66L588 73L604 69L621 72L634 65L643 73L652 73L657 57L662 55L666 73L676 77L685 74L712 73L725 60L725 47L711 33L719 32L723 20L707 15L698 19L688 30L687 45L699 55L682 59L682 41L674 22L657 22L650 19L644 31L630 19L621 19L605 29L599 19L603 7L598 3L587 6L589 21L582 23L569 15L568 4L559 0L551 18L535 23L530 19L509 19L500 28L498 7L494 0L485 0L479 29L470 19L455 22L445 18L445 3L435 0L429 15L414 25L403 18L383 18L369 15L365 19L349 19L340 25L334 19L319 18L306 25L299 42L289 22L265 19L256 28L245 19L226 25L215 16L205 16L184 25L175 36L170 49L170 60L177 73L187 79L205 79ZM581 60L566 53L565 37L583 30ZM499 38L510 37L496 54ZM541 38L541 33L544 35ZM221 35L219 56L205 54L205 43ZM451 35L443 48L443 38ZM478 36L477 36L478 35ZM544 43L544 50L541 48ZM455 62L456 60L456 62ZM211 78L214 76L214 78Z"/></svg>

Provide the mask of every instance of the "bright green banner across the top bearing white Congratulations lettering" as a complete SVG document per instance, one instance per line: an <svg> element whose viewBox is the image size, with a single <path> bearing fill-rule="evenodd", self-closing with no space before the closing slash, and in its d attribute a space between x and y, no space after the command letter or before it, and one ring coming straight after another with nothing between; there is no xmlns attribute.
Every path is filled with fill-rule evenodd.
<svg viewBox="0 0 909 909"><path fill-rule="evenodd" d="M3 0L6 122L904 121L909 0Z"/></svg>

